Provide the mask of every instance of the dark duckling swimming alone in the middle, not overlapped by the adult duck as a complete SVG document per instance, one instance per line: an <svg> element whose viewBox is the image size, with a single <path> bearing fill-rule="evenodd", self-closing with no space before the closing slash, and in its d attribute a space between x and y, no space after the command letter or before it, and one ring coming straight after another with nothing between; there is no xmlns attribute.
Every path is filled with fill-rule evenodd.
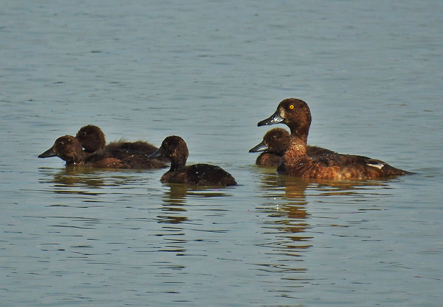
<svg viewBox="0 0 443 307"><path fill-rule="evenodd" d="M237 182L231 174L221 167L209 164L186 166L189 156L186 142L177 136L163 140L160 148L149 158L166 157L171 161L171 168L161 176L163 183L184 183L197 186L235 186Z"/></svg>

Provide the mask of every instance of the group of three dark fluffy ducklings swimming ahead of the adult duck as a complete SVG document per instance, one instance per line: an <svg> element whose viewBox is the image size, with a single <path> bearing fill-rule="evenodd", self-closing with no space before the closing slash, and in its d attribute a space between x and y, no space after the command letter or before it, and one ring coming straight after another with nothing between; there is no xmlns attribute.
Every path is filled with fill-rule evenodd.
<svg viewBox="0 0 443 307"><path fill-rule="evenodd" d="M119 140L106 144L100 128L82 127L75 137L63 136L40 154L39 158L59 157L66 166L77 165L98 168L170 169L161 176L164 183L185 183L199 186L234 186L234 177L221 167L209 164L186 166L189 156L186 142L177 136L163 140L160 148L143 141Z"/></svg>

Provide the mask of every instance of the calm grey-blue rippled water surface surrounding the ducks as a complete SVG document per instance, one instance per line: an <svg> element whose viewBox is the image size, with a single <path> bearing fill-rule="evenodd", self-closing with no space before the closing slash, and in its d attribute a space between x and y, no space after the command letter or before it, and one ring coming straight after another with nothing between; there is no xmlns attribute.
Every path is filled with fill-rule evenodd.
<svg viewBox="0 0 443 307"><path fill-rule="evenodd" d="M441 306L441 1L5 1L0 13L0 306ZM416 172L287 178L254 166L288 97L309 136ZM37 159L96 124L180 135L164 170Z"/></svg>

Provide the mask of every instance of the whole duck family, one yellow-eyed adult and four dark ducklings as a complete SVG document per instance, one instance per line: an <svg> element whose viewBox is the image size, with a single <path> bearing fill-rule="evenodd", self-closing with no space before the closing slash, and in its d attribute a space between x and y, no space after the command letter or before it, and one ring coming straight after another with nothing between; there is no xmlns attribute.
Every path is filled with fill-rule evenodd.
<svg viewBox="0 0 443 307"><path fill-rule="evenodd" d="M268 131L263 141L250 152L261 153L255 163L277 167L277 172L289 176L316 179L376 179L405 175L409 172L391 167L380 160L364 156L338 154L332 150L307 145L311 126L311 111L300 99L288 98L280 102L277 111L258 126L283 123L282 128ZM178 136L169 136L159 148L138 140L124 140L106 144L103 132L94 125L82 127L75 137L63 136L40 154L39 158L63 159L66 165L100 168L154 169L168 167L160 181L199 186L235 186L237 182L221 167L208 164L186 166L189 156L186 142Z"/></svg>

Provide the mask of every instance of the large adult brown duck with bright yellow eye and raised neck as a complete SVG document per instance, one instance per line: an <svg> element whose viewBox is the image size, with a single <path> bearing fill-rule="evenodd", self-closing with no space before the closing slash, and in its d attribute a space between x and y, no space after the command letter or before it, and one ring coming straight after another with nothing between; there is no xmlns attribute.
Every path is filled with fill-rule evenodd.
<svg viewBox="0 0 443 307"><path fill-rule="evenodd" d="M258 126L284 123L291 131L290 144L277 171L289 176L317 179L376 179L409 172L364 156L337 153L308 156L306 141L311 126L311 111L300 99L285 99L269 118Z"/></svg>

